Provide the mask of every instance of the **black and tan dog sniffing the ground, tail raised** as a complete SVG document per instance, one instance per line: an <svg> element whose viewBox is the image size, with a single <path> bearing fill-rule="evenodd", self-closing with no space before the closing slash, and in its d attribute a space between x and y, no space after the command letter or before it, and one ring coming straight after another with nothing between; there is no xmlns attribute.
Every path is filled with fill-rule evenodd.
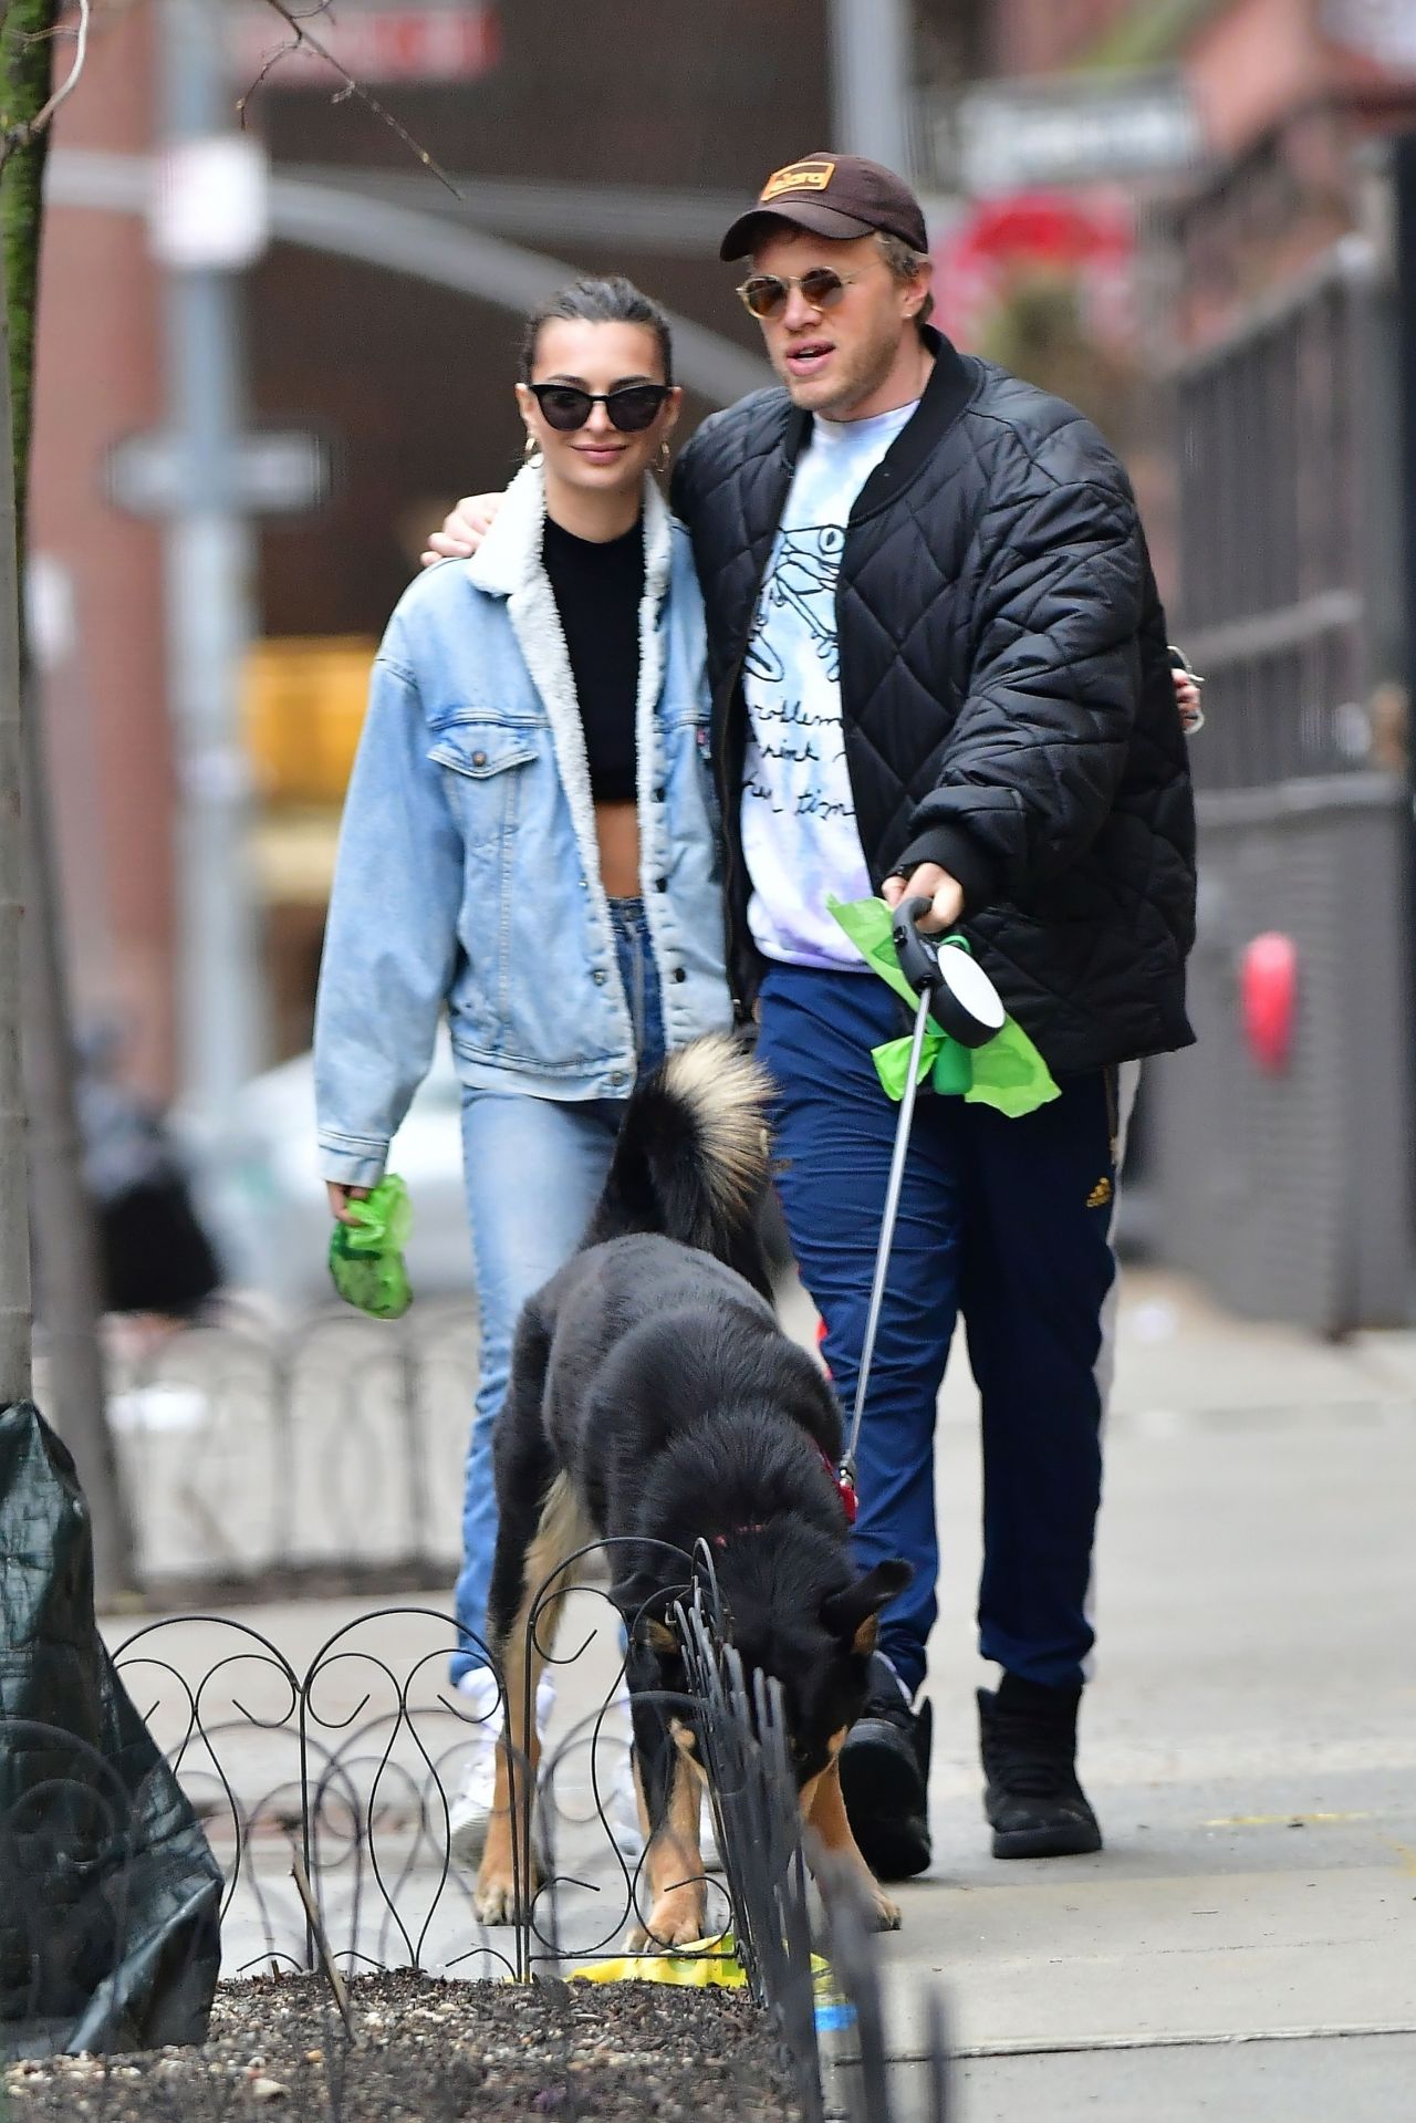
<svg viewBox="0 0 1416 2123"><path fill-rule="evenodd" d="M909 1565L858 1575L834 1482L841 1412L771 1306L756 1238L766 1095L764 1072L728 1038L673 1053L631 1098L580 1253L522 1312L497 1422L490 1641L510 1754L499 1749L478 1875L486 1923L516 1911L510 1802L526 1766L535 1775L526 1681L535 1698L548 1650L529 1641L531 1611L565 1558L597 1539L624 1543L609 1554L647 1836L639 1943L684 1945L705 1921L694 1707L660 1709L664 1694L686 1694L669 1616L701 1541L743 1662L781 1681L813 1870L828 1892L847 1879L881 1928L900 1921L851 1836L836 1754L864 1707L879 1609L909 1584Z"/></svg>

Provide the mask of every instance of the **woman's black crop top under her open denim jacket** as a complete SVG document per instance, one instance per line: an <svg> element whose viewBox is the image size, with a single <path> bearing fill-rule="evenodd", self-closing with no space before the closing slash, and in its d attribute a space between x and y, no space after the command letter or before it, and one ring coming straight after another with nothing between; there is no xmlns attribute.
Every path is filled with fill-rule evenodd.
<svg viewBox="0 0 1416 2123"><path fill-rule="evenodd" d="M590 794L597 802L633 802L643 518L624 537L594 543L548 516L543 554L571 654Z"/></svg>

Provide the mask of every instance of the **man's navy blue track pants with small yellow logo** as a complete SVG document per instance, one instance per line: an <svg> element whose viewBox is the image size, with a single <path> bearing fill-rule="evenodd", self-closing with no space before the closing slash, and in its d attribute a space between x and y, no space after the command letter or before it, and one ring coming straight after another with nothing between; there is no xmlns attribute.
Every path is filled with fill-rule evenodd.
<svg viewBox="0 0 1416 2123"><path fill-rule="evenodd" d="M870 1306L898 1106L870 1047L900 1004L868 974L773 966L758 1057L777 1083L779 1191L843 1410ZM957 1312L983 1405L979 1650L1021 1679L1076 1686L1102 1486L1102 1308L1115 1280L1117 1110L1106 1072L1070 1076L1019 1121L923 1091L915 1108L860 1435L862 1567L915 1565L881 1618L913 1694L934 1626L934 1410Z"/></svg>

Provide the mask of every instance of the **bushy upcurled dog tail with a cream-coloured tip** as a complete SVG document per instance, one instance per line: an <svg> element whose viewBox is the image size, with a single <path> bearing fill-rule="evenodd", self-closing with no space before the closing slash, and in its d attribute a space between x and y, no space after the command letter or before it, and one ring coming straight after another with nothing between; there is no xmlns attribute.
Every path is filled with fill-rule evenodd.
<svg viewBox="0 0 1416 2123"><path fill-rule="evenodd" d="M722 1032L675 1049L628 1102L584 1244L656 1231L766 1289L769 1091L766 1070Z"/></svg>

